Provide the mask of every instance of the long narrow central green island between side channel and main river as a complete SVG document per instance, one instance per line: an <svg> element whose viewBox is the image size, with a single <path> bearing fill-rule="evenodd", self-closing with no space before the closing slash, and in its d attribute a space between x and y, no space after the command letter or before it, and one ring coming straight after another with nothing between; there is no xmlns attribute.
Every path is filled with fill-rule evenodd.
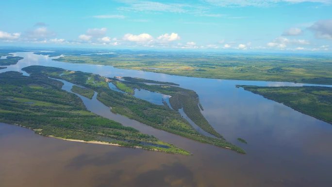
<svg viewBox="0 0 332 187"><path fill-rule="evenodd" d="M106 106L112 107L111 109L112 112L124 115L130 119L137 120L156 129L161 129L166 132L187 137L202 143L212 144L218 147L231 149L238 153L245 153L243 149L227 142L220 135L217 135L219 136L218 138L214 138L199 134L189 124L187 120L181 117L178 111L172 110L165 105L153 104L135 98L131 94L123 94L118 91L110 89L108 86L108 82L115 81L114 78L106 78L100 75L86 73L82 71L68 71L63 68L53 68L53 67L43 67L43 66L30 66L23 68L22 70L30 73L31 77L51 77L56 79L63 79L73 84L90 88L98 93L97 99L100 102L102 102ZM137 86L138 84L140 83L128 82L126 85ZM140 86L143 86L143 84ZM158 89L162 88L163 88L162 86L159 86ZM166 89L166 91L169 92L169 94L177 93L177 91L172 90L175 88L176 87L171 88L171 86L169 86L169 90ZM157 87L154 89L157 89ZM163 91L163 93L166 93L166 91ZM189 93L194 95L195 92L194 93L192 92ZM181 98L181 96L179 97ZM198 100L198 98L196 99ZM182 99L180 99L179 102L183 104ZM195 106L198 107L198 104L196 103Z"/></svg>

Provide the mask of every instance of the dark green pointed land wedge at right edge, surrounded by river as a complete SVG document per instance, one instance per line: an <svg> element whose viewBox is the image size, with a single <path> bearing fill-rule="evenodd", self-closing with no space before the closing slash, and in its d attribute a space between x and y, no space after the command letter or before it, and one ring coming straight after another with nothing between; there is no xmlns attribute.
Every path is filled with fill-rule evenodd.
<svg viewBox="0 0 332 187"><path fill-rule="evenodd" d="M332 124L332 87L238 85L252 93L283 103L303 114Z"/></svg>

